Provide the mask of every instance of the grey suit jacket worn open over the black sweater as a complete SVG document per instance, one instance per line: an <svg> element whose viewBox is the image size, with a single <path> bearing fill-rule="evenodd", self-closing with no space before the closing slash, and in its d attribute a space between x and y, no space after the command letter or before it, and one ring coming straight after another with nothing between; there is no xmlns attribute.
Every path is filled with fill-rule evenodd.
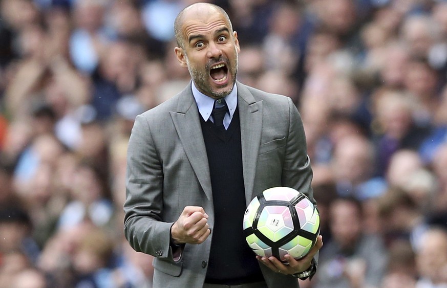
<svg viewBox="0 0 447 288"><path fill-rule="evenodd" d="M300 114L290 98L237 82L246 204L275 186L313 200L312 170ZM185 206L201 206L214 225L211 181L200 115L191 86L139 115L127 151L124 234L136 250L154 255L154 287L201 287L211 237L185 245L173 261L169 229ZM242 229L242 223L241 223ZM253 257L254 257L253 253ZM269 287L297 287L291 276L261 264Z"/></svg>

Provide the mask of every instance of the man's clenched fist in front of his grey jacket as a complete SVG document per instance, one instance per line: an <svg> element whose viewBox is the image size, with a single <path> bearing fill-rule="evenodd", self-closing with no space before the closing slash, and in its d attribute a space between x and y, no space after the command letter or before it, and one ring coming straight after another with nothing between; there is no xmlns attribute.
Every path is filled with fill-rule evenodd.
<svg viewBox="0 0 447 288"><path fill-rule="evenodd" d="M207 223L208 214L202 207L186 206L178 220L171 227L171 236L175 244L200 244L211 233Z"/></svg>

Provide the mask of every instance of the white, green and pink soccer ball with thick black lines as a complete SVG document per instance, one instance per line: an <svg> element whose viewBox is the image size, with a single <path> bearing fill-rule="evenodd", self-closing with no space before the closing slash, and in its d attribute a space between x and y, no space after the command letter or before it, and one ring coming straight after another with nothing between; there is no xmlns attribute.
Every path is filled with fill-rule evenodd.
<svg viewBox="0 0 447 288"><path fill-rule="evenodd" d="M301 192L289 187L264 190L248 204L244 235L254 253L285 261L309 253L320 234L320 214Z"/></svg>

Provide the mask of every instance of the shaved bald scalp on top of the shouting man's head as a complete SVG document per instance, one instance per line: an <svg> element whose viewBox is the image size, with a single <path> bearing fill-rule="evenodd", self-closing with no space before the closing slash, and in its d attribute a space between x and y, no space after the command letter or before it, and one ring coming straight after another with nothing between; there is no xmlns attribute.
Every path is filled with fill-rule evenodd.
<svg viewBox="0 0 447 288"><path fill-rule="evenodd" d="M184 39L181 32L181 28L183 26L183 23L187 19L193 19L196 18L198 15L212 15L215 13L222 14L225 19L228 21L228 27L230 28L230 33L233 32L233 27L231 25L230 17L228 16L227 12L222 9L222 7L219 7L214 4L210 3L194 3L186 8L184 8L180 13L177 15L176 20L174 22L174 33L177 41L177 46L180 48L184 48Z"/></svg>

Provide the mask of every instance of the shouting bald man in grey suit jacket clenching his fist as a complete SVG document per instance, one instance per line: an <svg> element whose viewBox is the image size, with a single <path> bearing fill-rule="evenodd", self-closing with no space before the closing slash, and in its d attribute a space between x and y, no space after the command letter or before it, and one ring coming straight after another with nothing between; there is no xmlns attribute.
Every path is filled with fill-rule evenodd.
<svg viewBox="0 0 447 288"><path fill-rule="evenodd" d="M175 34L193 81L135 120L126 238L156 256L155 287L297 287L297 277L315 272L322 238L301 260L255 258L242 219L267 188L293 187L313 200L300 115L290 98L236 81L239 41L222 8L186 7Z"/></svg>

